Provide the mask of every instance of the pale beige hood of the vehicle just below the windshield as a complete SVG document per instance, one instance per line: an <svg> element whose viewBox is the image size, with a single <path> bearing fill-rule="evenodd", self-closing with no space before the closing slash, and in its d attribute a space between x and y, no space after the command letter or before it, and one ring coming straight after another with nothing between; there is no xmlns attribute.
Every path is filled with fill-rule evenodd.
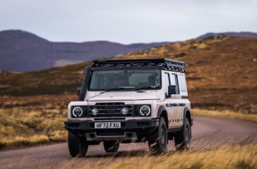
<svg viewBox="0 0 257 169"><path fill-rule="evenodd" d="M133 101L133 100L158 100L157 94L150 92L106 92L92 96L88 101Z"/></svg>

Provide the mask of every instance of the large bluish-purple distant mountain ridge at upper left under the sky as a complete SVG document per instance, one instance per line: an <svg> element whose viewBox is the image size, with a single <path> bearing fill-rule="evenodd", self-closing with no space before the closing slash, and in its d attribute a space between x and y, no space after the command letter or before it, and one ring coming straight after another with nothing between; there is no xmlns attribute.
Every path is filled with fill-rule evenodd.
<svg viewBox="0 0 257 169"><path fill-rule="evenodd" d="M49 42L30 32L5 30L0 32L0 68L28 72L131 53L168 43L124 45L107 41Z"/></svg>

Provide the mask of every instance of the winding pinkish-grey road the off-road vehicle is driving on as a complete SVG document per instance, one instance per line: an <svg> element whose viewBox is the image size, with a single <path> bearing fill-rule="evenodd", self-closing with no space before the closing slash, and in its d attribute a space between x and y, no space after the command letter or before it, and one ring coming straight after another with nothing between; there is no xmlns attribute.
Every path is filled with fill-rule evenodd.
<svg viewBox="0 0 257 169"><path fill-rule="evenodd" d="M192 149L209 149L222 144L257 142L257 123L243 120L194 117ZM37 146L26 149L0 151L0 168L63 168L69 162L87 161L93 165L106 165L124 156L140 156L148 151L148 144L121 144L119 153L107 154L102 144L90 146L84 158L71 158L66 143ZM169 142L174 151L174 142ZM101 161L101 162L99 162ZM70 168L70 167L69 167Z"/></svg>

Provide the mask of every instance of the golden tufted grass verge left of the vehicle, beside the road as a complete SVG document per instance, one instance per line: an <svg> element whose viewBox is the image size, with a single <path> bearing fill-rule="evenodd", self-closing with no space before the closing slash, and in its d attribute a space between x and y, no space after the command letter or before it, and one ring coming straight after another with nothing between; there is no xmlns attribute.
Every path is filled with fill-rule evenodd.
<svg viewBox="0 0 257 169"><path fill-rule="evenodd" d="M66 141L65 116L54 110L0 109L0 149Z"/></svg>

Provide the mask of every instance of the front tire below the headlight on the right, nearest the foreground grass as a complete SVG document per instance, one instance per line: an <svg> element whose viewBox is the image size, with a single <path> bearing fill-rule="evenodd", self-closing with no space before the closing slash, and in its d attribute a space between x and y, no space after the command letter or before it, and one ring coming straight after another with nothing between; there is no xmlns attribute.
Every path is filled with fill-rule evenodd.
<svg viewBox="0 0 257 169"><path fill-rule="evenodd" d="M167 124L164 118L160 118L159 127L150 137L148 137L148 146L151 154L163 154L167 151Z"/></svg>

